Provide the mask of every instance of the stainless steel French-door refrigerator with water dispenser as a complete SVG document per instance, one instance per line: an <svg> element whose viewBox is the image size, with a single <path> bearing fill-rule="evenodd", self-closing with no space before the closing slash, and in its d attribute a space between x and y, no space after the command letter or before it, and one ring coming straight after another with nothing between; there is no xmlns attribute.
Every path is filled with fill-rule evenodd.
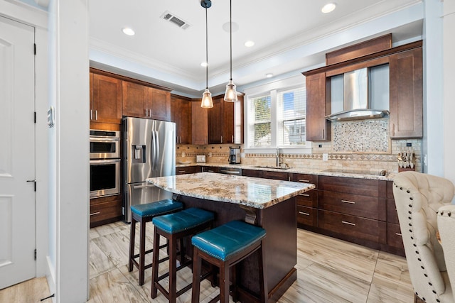
<svg viewBox="0 0 455 303"><path fill-rule="evenodd" d="M176 175L176 123L141 118L122 121L124 157L124 221L131 222L134 204L171 198L146 182L149 177Z"/></svg>

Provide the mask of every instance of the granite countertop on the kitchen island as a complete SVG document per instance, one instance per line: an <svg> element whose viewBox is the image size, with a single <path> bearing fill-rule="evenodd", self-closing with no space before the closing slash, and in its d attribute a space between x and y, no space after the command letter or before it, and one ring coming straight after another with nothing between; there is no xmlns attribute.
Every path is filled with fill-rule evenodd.
<svg viewBox="0 0 455 303"><path fill-rule="evenodd" d="M314 184L223 175L213 172L154 177L146 180L161 189L187 197L207 199L264 209L302 192Z"/></svg>

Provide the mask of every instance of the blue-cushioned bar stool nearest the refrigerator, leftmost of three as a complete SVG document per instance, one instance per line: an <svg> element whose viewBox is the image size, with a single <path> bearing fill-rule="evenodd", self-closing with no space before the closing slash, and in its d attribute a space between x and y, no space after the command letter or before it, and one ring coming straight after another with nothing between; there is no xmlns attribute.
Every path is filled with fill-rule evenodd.
<svg viewBox="0 0 455 303"><path fill-rule="evenodd" d="M144 284L144 271L147 268L151 268L153 263L145 265L145 255L151 253L153 249L145 251L145 226L146 222L150 222L155 216L161 216L163 214L171 214L176 211L181 211L183 204L181 202L174 201L172 199L164 199L157 202L151 202L146 204L136 204L131 206L131 231L129 233L129 263L128 270L133 270L133 265L139 269L139 285ZM141 224L141 234L139 236L139 253L134 254L134 237L136 236L136 223ZM164 248L167 245L161 246ZM159 248L159 249L160 249ZM139 262L136 258L139 257Z"/></svg>

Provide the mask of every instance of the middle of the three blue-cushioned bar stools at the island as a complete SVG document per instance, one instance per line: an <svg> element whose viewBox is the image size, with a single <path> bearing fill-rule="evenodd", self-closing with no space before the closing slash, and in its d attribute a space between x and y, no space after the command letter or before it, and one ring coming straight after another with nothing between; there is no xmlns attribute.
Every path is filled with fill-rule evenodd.
<svg viewBox="0 0 455 303"><path fill-rule="evenodd" d="M191 265L191 260L186 261L184 248L180 247L181 264L177 268L176 248L177 241L186 236L193 236L200 231L210 228L213 223L214 215L210 211L203 209L190 208L178 211L174 214L156 216L153 219L154 229L154 258L153 263L157 264L152 268L151 274L151 297L156 298L159 290L169 300L174 303L178 296L191 288L191 284L177 291L177 271L186 265ZM159 238L163 236L169 243L169 272L158 276L159 270ZM165 277L169 277L169 290L165 290L159 283Z"/></svg>

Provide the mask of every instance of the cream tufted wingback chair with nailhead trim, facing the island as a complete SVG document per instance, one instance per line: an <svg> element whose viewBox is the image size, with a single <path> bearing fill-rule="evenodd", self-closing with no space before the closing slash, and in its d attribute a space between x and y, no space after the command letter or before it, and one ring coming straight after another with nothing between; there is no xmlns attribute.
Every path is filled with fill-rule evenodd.
<svg viewBox="0 0 455 303"><path fill-rule="evenodd" d="M449 180L420 172L400 172L393 195L414 292L424 302L455 302L437 239L437 211L449 205L455 187Z"/></svg>

